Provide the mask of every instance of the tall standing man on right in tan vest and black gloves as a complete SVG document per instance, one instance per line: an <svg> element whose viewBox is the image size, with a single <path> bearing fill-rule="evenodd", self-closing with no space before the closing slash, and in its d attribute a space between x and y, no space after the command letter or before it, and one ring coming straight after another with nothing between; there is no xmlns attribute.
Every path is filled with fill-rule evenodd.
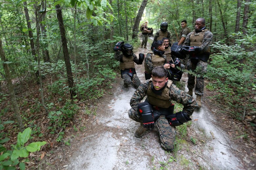
<svg viewBox="0 0 256 170"><path fill-rule="evenodd" d="M195 87L195 94L197 95L198 107L202 106L201 96L203 96L204 89L204 77L203 75L207 72L207 60L210 56L210 46L212 43L213 35L211 31L205 29L205 19L198 18L195 23L195 30L190 32L184 42L182 51L189 54L189 60L187 69L192 70L196 78L195 87L195 76L188 74L188 94L193 95L193 88Z"/></svg>

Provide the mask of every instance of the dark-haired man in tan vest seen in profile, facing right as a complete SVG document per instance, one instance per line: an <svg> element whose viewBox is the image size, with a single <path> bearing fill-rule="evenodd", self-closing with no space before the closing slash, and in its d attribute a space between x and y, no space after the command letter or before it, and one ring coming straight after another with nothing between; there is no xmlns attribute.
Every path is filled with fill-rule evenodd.
<svg viewBox="0 0 256 170"><path fill-rule="evenodd" d="M148 53L145 57L145 79L150 79L152 70L156 66L164 66L164 68L170 68L170 64L167 64L166 56L164 55L164 44L162 40L158 40L154 43L153 53ZM175 67L175 66L174 66Z"/></svg>

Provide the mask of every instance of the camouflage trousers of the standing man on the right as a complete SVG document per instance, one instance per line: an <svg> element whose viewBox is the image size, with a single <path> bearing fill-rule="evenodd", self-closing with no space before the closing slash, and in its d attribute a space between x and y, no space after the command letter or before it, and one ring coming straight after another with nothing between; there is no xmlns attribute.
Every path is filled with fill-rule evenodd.
<svg viewBox="0 0 256 170"><path fill-rule="evenodd" d="M187 88L193 89L195 87L195 94L203 96L203 89L204 89L203 75L206 74L207 72L207 62L198 60L197 63L193 63L191 62L191 59L188 59L187 70L192 70L193 73L197 75L196 87L195 87L195 76L188 74Z"/></svg>

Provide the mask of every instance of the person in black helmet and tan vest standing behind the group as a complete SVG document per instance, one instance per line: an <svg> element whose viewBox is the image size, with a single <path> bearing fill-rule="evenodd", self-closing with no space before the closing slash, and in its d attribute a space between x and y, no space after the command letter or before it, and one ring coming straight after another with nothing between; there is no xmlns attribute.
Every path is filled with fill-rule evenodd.
<svg viewBox="0 0 256 170"><path fill-rule="evenodd" d="M169 46L171 46L171 33L167 30L168 29L168 23L167 22L161 22L160 24L160 30L157 31L157 33L155 34L153 43L151 44L151 50L153 50L154 47L154 43L157 40L162 40L162 38L166 37L169 39Z"/></svg>

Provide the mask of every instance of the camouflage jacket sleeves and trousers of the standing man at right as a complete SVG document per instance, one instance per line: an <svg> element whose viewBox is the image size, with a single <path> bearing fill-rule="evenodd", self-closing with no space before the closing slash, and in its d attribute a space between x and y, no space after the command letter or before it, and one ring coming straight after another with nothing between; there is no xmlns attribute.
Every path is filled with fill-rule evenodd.
<svg viewBox="0 0 256 170"><path fill-rule="evenodd" d="M212 43L213 34L209 30L202 31L203 33L203 40L202 44L199 46L201 49L200 54L206 53L210 51L209 45ZM201 33L202 33L201 32ZM184 42L184 45L191 45L190 36L191 34L199 34L195 33L195 31L190 32ZM195 45L197 46L197 45ZM196 54L198 55L198 54ZM204 78L203 75L207 72L207 61L198 60L198 62L192 62L191 59L188 59L187 70L192 70L197 76L196 79L196 88L195 94L199 96L203 96L203 89L204 89ZM188 89L193 89L195 87L195 76L188 74Z"/></svg>

